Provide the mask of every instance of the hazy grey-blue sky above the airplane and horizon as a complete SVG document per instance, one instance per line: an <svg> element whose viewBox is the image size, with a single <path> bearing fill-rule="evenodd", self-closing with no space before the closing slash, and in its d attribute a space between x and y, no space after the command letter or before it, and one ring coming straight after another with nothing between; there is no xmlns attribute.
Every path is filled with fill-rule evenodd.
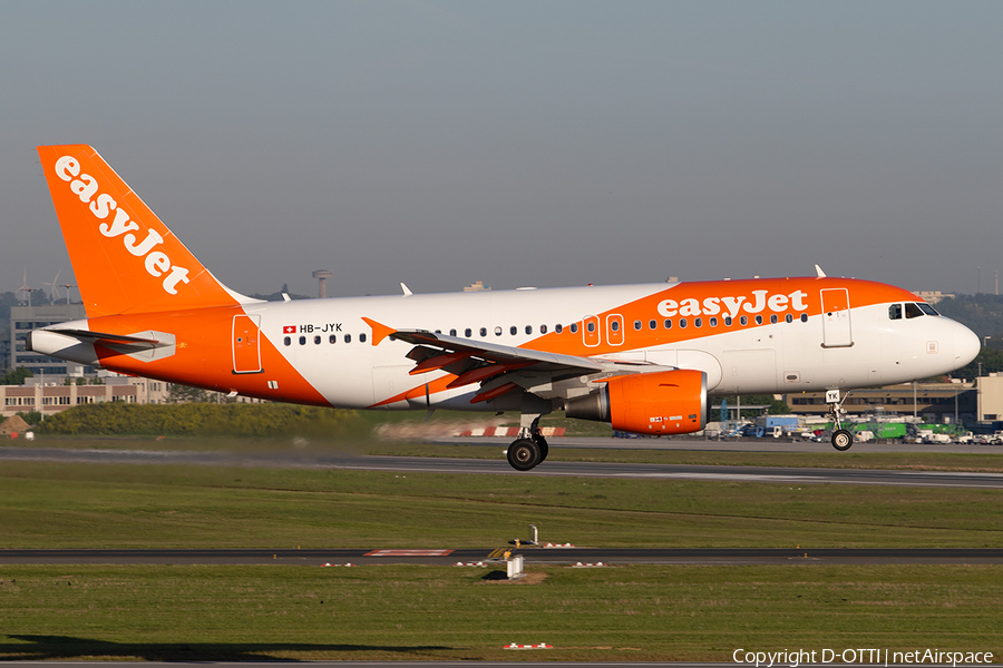
<svg viewBox="0 0 1003 668"><path fill-rule="evenodd" d="M0 0L0 292L90 144L237 292L994 292L1003 3Z"/></svg>

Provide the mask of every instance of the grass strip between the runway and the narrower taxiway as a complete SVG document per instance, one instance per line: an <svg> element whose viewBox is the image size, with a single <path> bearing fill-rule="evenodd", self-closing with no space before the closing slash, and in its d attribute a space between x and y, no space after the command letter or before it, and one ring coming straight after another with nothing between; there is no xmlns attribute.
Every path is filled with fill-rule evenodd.
<svg viewBox="0 0 1003 668"><path fill-rule="evenodd" d="M8 548L1003 547L1003 491L6 462Z"/></svg>

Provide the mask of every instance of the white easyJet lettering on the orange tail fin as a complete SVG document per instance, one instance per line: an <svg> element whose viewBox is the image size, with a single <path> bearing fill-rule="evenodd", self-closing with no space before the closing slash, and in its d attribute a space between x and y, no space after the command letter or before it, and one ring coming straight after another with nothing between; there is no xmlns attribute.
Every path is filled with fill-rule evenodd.
<svg viewBox="0 0 1003 668"><path fill-rule="evenodd" d="M56 160L55 169L56 176L70 185L70 190L80 198L80 202L89 205L88 208L95 218L107 220L111 212L115 212L111 223L100 223L98 230L109 238L120 236L125 249L143 258L143 266L150 276L164 277L162 283L164 292L176 295L178 284L188 282L188 269L174 265L166 253L155 249L164 243L164 237L156 229L147 228L146 237L142 242L138 240L139 237L133 233L140 232L139 224L130 219L125 209L118 207L115 198L107 193L98 193L97 179L89 174L80 174L80 163L77 158L62 156Z"/></svg>

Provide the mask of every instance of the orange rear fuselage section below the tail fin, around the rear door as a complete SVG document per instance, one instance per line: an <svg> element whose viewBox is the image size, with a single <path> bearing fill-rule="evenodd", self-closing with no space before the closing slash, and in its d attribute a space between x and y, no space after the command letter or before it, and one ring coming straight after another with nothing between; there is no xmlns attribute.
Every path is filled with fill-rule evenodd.
<svg viewBox="0 0 1003 668"><path fill-rule="evenodd" d="M331 405L272 345L259 334L261 373L233 373L232 326L240 306L199 308L176 313L142 313L89 320L98 332L132 333L159 331L175 335L175 353L163 360L140 361L107 346L95 345L101 365L111 371L196 385L244 396ZM270 389L269 382L277 383Z"/></svg>

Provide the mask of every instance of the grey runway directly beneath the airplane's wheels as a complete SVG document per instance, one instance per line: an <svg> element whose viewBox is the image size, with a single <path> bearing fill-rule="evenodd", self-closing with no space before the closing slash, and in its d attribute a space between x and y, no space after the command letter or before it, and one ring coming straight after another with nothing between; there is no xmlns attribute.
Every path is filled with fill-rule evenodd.
<svg viewBox="0 0 1003 668"><path fill-rule="evenodd" d="M556 445L555 445L556 446ZM834 453L839 456L839 453ZM897 471L879 469L820 469L785 466L714 466L686 464L633 464L622 462L546 461L518 472L499 450L497 460L421 456L373 456L345 452L238 453L145 450L77 450L56 448L0 448L0 461L51 461L91 464L183 464L247 468L305 468L393 473L452 473L623 478L647 480L708 480L779 484L861 484L1003 489L1003 473Z"/></svg>

